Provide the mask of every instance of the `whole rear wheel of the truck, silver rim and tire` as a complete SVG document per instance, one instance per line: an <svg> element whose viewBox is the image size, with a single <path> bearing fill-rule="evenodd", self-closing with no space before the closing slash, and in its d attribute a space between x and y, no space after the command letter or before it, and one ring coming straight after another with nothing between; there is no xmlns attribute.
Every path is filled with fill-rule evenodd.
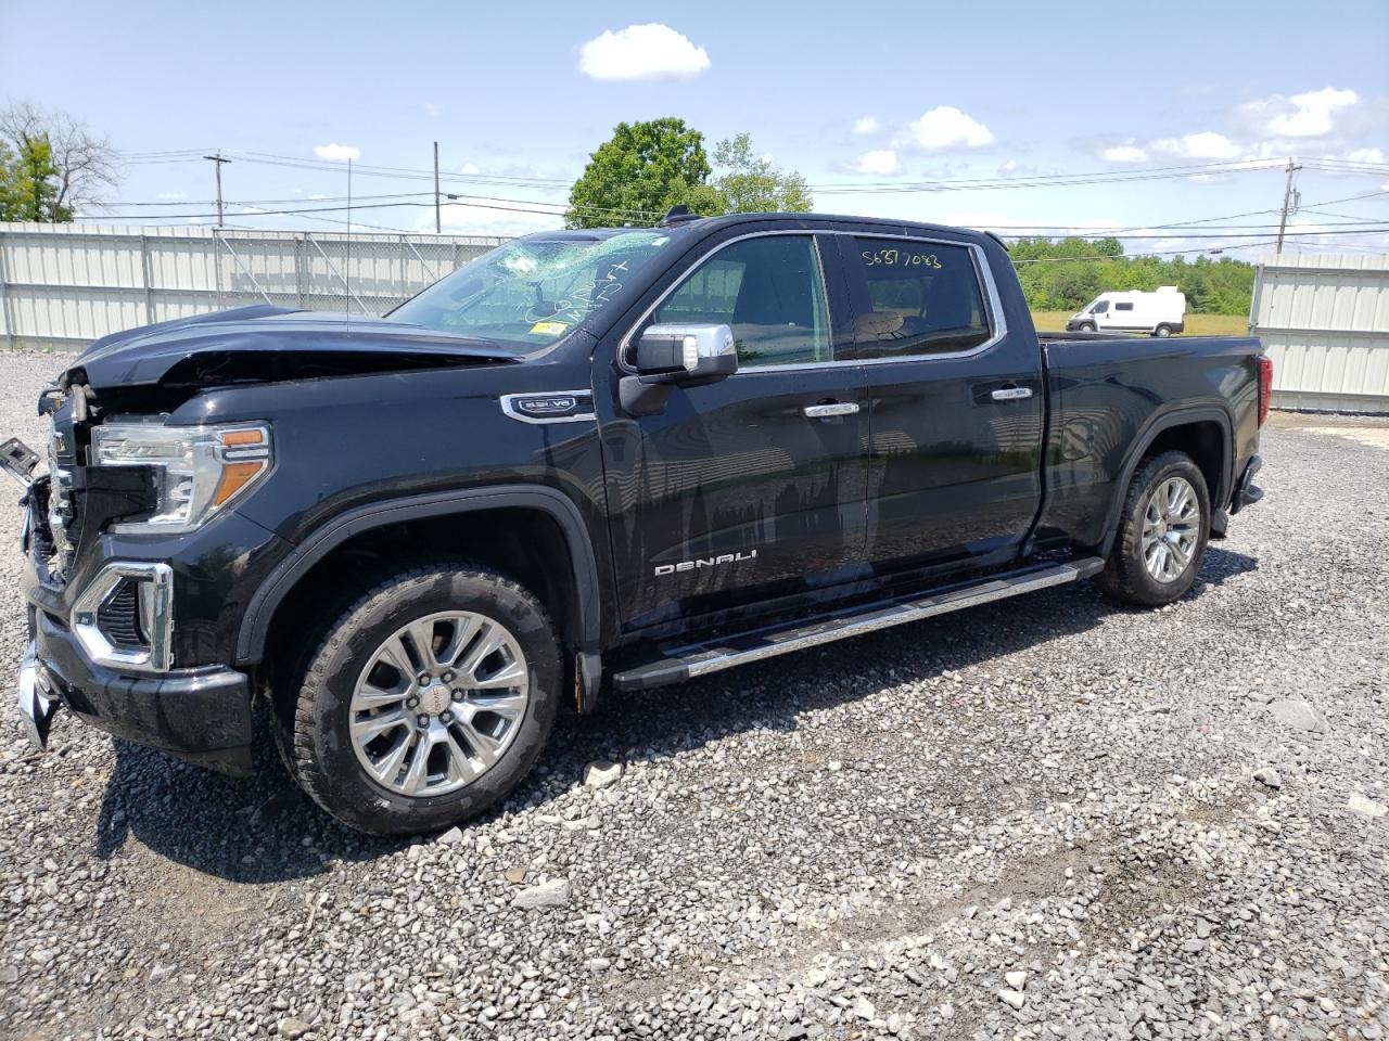
<svg viewBox="0 0 1389 1041"><path fill-rule="evenodd" d="M1100 591L1126 604L1161 607L1196 582L1210 539L1206 477L1186 452L1146 459L1129 483Z"/></svg>

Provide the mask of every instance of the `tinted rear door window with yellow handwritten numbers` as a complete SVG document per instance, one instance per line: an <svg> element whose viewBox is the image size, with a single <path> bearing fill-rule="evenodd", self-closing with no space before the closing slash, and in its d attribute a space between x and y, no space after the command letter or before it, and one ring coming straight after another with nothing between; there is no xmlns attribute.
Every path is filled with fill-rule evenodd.
<svg viewBox="0 0 1389 1041"><path fill-rule="evenodd" d="M968 351L990 336L974 258L965 246L856 236L871 311L853 336L860 358Z"/></svg>

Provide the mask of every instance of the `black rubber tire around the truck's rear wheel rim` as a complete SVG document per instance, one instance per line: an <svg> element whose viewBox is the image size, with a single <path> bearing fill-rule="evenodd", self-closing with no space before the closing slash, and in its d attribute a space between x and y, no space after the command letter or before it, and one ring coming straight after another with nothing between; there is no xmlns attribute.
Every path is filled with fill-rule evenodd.
<svg viewBox="0 0 1389 1041"><path fill-rule="evenodd" d="M1196 525L1195 550L1186 565L1174 579L1160 582L1149 572L1143 557L1143 525L1154 493L1171 477L1181 477L1192 487L1200 518ZM1133 480L1129 482L1120 511L1120 527L1114 539L1114 548L1110 550L1108 559L1104 562L1104 570L1095 577L1095 584L1107 597L1125 604L1140 607L1171 604L1185 595L1192 583L1196 582L1196 575L1206 557L1210 530L1210 493L1206 489L1206 477L1192 457L1186 452L1168 451L1147 458L1139 465Z"/></svg>

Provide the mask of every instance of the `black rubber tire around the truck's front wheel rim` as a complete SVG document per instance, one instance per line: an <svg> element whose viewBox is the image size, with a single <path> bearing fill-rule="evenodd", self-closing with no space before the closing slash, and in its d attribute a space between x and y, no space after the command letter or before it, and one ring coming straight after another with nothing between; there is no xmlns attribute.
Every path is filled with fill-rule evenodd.
<svg viewBox="0 0 1389 1041"><path fill-rule="evenodd" d="M446 794L399 794L378 783L358 759L349 730L353 691L392 634L449 611L485 615L514 636L529 673L529 700L506 750L481 776ZM504 799L540 756L564 669L544 608L511 579L463 561L422 562L381 577L346 609L326 611L308 632L317 640L311 637L297 663L289 665L276 693L276 737L294 780L349 827L417 834L458 824Z"/></svg>

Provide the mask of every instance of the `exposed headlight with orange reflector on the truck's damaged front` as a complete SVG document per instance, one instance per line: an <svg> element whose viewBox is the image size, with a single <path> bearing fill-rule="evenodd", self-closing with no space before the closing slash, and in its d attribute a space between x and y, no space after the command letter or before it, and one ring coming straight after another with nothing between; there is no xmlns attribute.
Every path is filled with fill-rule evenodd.
<svg viewBox="0 0 1389 1041"><path fill-rule="evenodd" d="M192 532L264 477L271 458L269 428L258 423L113 422L92 430L92 465L154 472L154 512L111 526L128 534Z"/></svg>

